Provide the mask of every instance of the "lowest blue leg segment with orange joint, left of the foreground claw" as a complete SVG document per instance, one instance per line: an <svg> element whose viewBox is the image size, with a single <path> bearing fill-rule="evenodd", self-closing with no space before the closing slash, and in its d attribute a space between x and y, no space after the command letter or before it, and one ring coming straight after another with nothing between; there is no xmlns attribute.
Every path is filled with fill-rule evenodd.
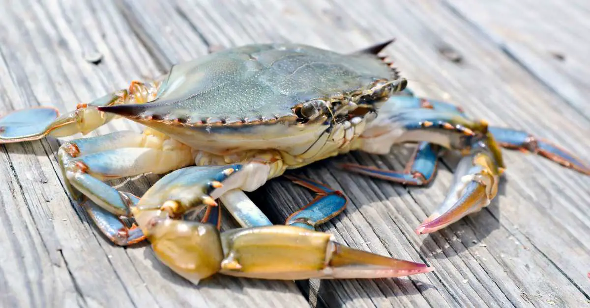
<svg viewBox="0 0 590 308"><path fill-rule="evenodd" d="M137 204L139 198L130 193L122 193L129 199L130 204ZM139 243L145 239L142 230L134 223L132 226L127 226L119 216L116 216L104 208L98 206L94 201L87 199L81 203L81 207L86 210L94 224L100 231L119 246L129 246L131 244Z"/></svg>

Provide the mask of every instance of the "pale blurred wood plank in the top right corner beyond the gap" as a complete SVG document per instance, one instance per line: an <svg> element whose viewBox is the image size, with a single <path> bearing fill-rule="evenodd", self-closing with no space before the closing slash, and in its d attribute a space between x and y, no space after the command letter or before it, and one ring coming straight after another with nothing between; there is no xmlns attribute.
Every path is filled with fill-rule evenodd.
<svg viewBox="0 0 590 308"><path fill-rule="evenodd" d="M586 1L445 0L461 18L499 45L546 87L590 118Z"/></svg>

